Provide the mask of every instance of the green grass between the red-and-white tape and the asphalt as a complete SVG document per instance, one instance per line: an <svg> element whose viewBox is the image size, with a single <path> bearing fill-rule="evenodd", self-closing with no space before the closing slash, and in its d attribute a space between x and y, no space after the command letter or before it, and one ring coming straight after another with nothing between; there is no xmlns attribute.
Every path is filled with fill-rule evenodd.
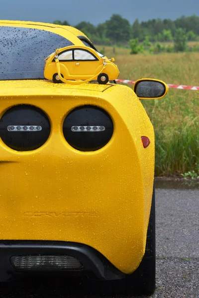
<svg viewBox="0 0 199 298"><path fill-rule="evenodd" d="M185 102L184 96L179 95L174 101L172 97L168 95L162 100L143 102L155 129L156 176L176 175L190 170L199 172L197 102Z"/></svg>

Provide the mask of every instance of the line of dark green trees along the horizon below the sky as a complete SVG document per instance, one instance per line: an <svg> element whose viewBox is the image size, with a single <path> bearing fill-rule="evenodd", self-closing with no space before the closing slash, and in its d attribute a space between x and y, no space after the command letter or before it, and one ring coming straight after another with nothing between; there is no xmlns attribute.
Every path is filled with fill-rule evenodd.
<svg viewBox="0 0 199 298"><path fill-rule="evenodd" d="M54 21L55 24L70 25L66 20ZM199 41L199 16L181 16L176 20L150 19L133 24L119 14L113 14L109 20L95 26L87 21L82 21L76 26L84 32L95 44L101 45L127 45L129 40L138 42L172 42L175 40L179 29L188 41Z"/></svg>

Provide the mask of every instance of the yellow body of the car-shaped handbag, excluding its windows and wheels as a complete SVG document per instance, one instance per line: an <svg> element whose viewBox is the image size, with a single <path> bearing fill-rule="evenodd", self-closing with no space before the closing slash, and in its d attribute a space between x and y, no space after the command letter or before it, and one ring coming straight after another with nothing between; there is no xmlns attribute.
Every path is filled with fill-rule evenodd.
<svg viewBox="0 0 199 298"><path fill-rule="evenodd" d="M63 61L60 58L60 61L55 60L55 53L52 53L47 59L44 68L44 76L47 79L53 79L54 74L58 74L59 70L57 68L57 63L59 63L60 72L65 80L97 80L98 75L105 73L108 75L109 80L114 80L119 75L119 70L117 66L107 57L100 57L98 53L86 46L68 46L65 48L60 48L56 50L56 55L60 56L61 54L68 51L83 50L87 53L90 53L91 56L95 57L95 60L92 61L83 61L83 60L71 60ZM105 65L104 65L105 62ZM62 78L59 75L60 79ZM61 79L64 82L67 82ZM70 82L69 82L70 83Z"/></svg>

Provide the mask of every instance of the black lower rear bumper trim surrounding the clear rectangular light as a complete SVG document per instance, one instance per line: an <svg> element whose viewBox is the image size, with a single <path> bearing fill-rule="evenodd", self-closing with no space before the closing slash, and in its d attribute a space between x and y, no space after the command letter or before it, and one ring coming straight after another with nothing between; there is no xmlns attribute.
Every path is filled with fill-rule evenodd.
<svg viewBox="0 0 199 298"><path fill-rule="evenodd" d="M68 255L82 264L78 270L16 270L11 262L12 256L23 255ZM102 280L117 280L125 276L94 248L81 243L64 241L0 241L0 282L6 282L23 275L66 275L93 276Z"/></svg>

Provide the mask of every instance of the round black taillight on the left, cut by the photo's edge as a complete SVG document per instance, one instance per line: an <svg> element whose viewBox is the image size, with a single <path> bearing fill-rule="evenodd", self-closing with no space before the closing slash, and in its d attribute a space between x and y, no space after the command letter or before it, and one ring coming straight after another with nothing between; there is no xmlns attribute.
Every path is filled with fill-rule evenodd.
<svg viewBox="0 0 199 298"><path fill-rule="evenodd" d="M0 138L11 149L29 151L41 147L50 135L46 114L32 105L9 108L0 119Z"/></svg>

